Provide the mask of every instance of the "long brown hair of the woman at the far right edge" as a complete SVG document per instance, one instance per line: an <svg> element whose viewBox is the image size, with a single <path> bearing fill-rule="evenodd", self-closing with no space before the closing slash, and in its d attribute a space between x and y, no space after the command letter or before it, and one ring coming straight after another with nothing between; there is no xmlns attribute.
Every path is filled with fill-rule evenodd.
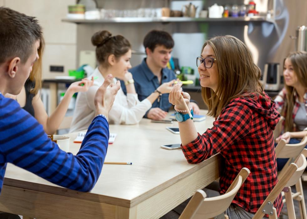
<svg viewBox="0 0 307 219"><path fill-rule="evenodd" d="M307 89L307 52L297 51L290 53L286 59L289 59L294 73L297 76L298 81ZM284 60L284 62L285 62ZM285 117L284 131L293 131L293 107L295 103L295 88L292 86L287 86L286 89L286 100L282 109L282 114Z"/></svg>

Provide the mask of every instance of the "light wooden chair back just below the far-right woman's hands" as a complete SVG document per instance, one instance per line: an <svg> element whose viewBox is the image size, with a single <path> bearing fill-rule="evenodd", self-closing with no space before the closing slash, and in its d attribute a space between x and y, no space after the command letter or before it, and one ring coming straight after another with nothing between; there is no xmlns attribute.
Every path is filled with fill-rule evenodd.
<svg viewBox="0 0 307 219"><path fill-rule="evenodd" d="M307 144L307 135L297 144L286 144L284 139L281 139L275 148L276 158L289 158L288 162L284 165L284 168L278 173L278 179L282 177L289 167L289 165L294 162L296 158L299 157L302 150Z"/></svg>

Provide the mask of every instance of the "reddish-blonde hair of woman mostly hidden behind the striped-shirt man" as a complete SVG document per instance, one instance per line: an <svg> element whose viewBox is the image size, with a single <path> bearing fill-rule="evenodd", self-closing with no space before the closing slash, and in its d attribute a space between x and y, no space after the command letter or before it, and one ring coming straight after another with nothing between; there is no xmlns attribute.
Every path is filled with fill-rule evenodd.
<svg viewBox="0 0 307 219"><path fill-rule="evenodd" d="M43 36L39 40L39 49L37 51L39 59L34 62L32 71L30 72L29 79L35 82L35 86L30 90L30 93L36 95L38 91L42 88L42 58L45 47L45 41Z"/></svg>

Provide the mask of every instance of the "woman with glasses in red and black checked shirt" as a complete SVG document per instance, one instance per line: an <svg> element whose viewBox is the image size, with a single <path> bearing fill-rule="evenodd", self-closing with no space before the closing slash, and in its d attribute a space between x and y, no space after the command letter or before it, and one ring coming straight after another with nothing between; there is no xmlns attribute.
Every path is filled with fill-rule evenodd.
<svg viewBox="0 0 307 219"><path fill-rule="evenodd" d="M239 39L218 36L206 41L197 66L208 115L216 121L202 135L197 133L180 98L183 94L190 106L190 95L182 92L181 83L175 85L169 102L180 112L177 118L183 120L179 123L182 151L191 164L217 153L225 158L220 194L243 167L250 169L226 213L230 219L252 218L278 181L273 130L280 115L259 83L260 69ZM282 206L280 195L274 202L278 216Z"/></svg>

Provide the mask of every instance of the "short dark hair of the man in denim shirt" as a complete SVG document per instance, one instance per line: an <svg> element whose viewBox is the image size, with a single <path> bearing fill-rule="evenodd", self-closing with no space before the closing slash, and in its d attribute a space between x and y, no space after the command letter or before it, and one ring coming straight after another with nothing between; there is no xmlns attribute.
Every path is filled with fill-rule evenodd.
<svg viewBox="0 0 307 219"><path fill-rule="evenodd" d="M174 40L166 31L152 30L146 34L143 45L145 49L148 47L151 51L153 51L157 45L163 45L167 49L172 49L174 47Z"/></svg>

